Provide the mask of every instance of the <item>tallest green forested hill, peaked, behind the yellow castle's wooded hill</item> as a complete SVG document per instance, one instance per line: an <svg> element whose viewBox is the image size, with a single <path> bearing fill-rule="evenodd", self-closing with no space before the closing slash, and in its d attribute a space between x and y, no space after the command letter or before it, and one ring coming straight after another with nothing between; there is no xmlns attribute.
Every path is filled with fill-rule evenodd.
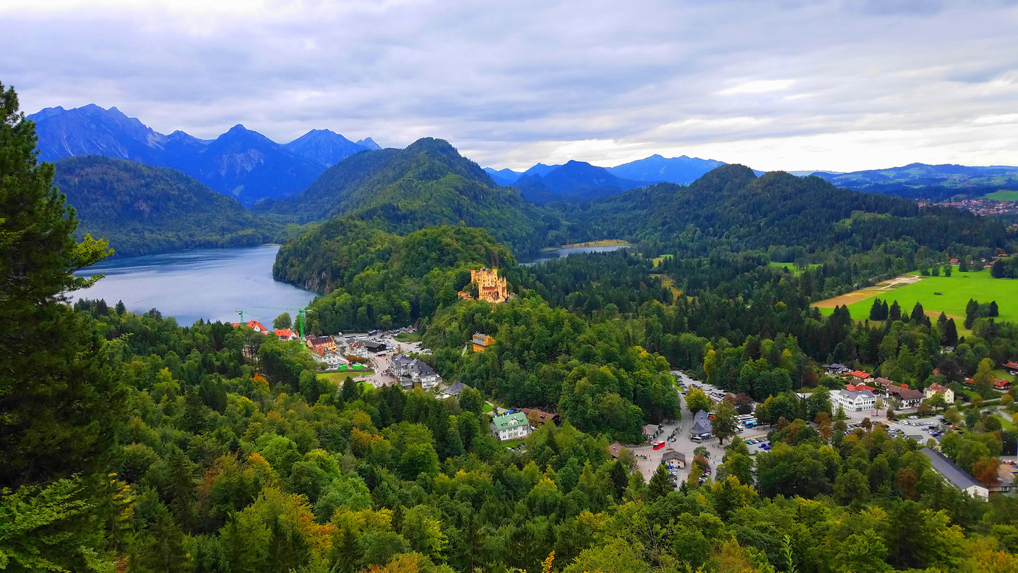
<svg viewBox="0 0 1018 573"><path fill-rule="evenodd" d="M354 215L401 235L462 223L488 229L517 252L546 246L547 233L560 226L556 216L516 189L500 187L447 141L431 137L403 150L348 157L301 193L266 202L257 211L295 215L302 222ZM553 241L559 238L566 237Z"/></svg>

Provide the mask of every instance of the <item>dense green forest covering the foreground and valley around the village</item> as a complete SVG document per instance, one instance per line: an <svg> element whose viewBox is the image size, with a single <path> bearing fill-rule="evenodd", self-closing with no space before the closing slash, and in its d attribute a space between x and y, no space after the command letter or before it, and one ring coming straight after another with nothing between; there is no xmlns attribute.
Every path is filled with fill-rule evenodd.
<svg viewBox="0 0 1018 573"><path fill-rule="evenodd" d="M74 271L109 244L75 238L14 92L0 87L0 570L1018 571L1018 501L951 486L922 445L875 419L849 432L830 395L841 383L819 368L970 393L927 406L965 431L943 439L944 454L989 480L1016 436L979 405L993 369L1018 356L1018 326L987 312L962 333L921 309L853 321L810 306L954 248L1013 246L992 222L905 209L839 219L847 235L815 245L819 227L771 244L762 226L697 240L690 224L641 233L653 251L522 267L484 229L398 235L337 219L281 249L277 276L324 277L316 332L417 325L426 359L471 387L441 399L335 386L299 342L246 328L68 304L100 280ZM871 200L885 199L898 209ZM891 227L922 221L960 230L935 240ZM779 252L815 261L772 265ZM516 296L456 296L482 265ZM495 343L465 352L475 332ZM693 459L678 489L663 467L644 480L628 450L610 455L612 441L679 414L671 368L730 393L717 406L691 394L691 408L759 401L774 448L751 455L734 438L710 478ZM1012 395L998 399L1013 412ZM551 407L563 422L507 449L486 400Z"/></svg>

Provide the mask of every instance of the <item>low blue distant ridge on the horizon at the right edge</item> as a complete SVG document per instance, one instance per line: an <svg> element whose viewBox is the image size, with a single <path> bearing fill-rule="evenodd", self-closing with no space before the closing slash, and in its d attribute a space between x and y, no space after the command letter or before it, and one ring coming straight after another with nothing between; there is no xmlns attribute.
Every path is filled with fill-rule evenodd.
<svg viewBox="0 0 1018 573"><path fill-rule="evenodd" d="M1018 167L994 165L926 165L812 173L839 187L910 198L945 199L956 195L982 196L1001 189L1018 189Z"/></svg>

